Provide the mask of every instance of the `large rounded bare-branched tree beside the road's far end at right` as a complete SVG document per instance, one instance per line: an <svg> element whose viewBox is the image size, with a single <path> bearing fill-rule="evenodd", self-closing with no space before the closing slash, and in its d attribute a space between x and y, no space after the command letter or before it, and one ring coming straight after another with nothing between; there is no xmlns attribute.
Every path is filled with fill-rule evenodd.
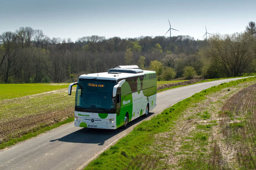
<svg viewBox="0 0 256 170"><path fill-rule="evenodd" d="M212 58L222 66L228 77L240 76L250 66L255 55L255 38L248 33L232 35L216 34L208 39L200 53L205 58Z"/></svg>

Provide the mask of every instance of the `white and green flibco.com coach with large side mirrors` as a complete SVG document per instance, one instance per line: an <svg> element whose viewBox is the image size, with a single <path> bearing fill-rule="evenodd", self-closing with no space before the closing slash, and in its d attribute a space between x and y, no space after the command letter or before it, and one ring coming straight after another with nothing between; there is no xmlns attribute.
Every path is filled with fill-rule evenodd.
<svg viewBox="0 0 256 170"><path fill-rule="evenodd" d="M75 126L126 128L128 122L148 116L156 107L156 72L138 66L116 66L104 73L83 74L77 85Z"/></svg>

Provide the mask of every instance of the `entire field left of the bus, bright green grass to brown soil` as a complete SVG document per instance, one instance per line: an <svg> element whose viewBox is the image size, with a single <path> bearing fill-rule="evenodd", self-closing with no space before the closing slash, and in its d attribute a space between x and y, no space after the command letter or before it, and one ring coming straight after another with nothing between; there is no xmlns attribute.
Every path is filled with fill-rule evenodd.
<svg viewBox="0 0 256 170"><path fill-rule="evenodd" d="M68 95L68 85L0 84L0 149L61 125L66 118L66 123L73 121L75 95Z"/></svg>

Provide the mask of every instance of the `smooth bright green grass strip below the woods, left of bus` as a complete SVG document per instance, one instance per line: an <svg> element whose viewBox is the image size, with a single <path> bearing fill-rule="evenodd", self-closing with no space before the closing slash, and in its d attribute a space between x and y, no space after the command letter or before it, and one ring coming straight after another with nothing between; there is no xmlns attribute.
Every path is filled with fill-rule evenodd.
<svg viewBox="0 0 256 170"><path fill-rule="evenodd" d="M0 84L0 100L67 88L69 84Z"/></svg>

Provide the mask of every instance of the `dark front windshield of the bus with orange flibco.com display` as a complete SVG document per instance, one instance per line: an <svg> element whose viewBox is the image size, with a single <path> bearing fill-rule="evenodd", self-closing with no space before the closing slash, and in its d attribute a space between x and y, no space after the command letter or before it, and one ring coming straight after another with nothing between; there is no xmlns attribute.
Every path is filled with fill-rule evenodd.
<svg viewBox="0 0 256 170"><path fill-rule="evenodd" d="M115 113L112 98L115 80L79 79L76 89L75 111L91 113Z"/></svg>

